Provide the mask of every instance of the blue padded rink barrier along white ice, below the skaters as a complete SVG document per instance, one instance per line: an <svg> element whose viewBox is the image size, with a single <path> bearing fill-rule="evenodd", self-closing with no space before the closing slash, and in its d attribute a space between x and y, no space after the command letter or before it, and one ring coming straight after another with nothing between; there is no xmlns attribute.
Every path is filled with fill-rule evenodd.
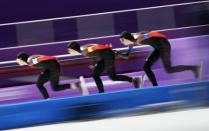
<svg viewBox="0 0 209 131"><path fill-rule="evenodd" d="M209 81L0 105L0 130L209 105Z"/></svg>

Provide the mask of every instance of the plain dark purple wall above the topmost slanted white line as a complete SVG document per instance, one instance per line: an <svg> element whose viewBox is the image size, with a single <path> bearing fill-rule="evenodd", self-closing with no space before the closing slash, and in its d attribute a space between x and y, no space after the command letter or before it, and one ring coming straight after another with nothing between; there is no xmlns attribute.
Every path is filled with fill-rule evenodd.
<svg viewBox="0 0 209 131"><path fill-rule="evenodd" d="M0 23L82 15L198 0L1 0Z"/></svg>

